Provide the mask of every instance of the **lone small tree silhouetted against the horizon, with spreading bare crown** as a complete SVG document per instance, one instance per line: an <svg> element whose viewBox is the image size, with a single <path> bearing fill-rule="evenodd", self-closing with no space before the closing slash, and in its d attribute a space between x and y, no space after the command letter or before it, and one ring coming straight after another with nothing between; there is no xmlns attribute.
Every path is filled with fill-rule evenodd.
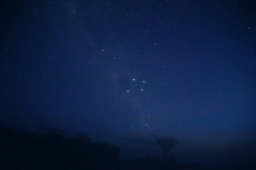
<svg viewBox="0 0 256 170"><path fill-rule="evenodd" d="M153 135L151 138L154 140L155 146L162 147L164 158L167 160L167 152L177 145L177 139L172 136L156 137L155 135Z"/></svg>

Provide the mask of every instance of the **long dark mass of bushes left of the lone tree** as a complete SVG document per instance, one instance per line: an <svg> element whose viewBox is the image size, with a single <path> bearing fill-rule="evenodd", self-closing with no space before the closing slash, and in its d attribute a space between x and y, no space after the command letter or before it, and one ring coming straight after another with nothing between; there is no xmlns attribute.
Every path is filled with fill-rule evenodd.
<svg viewBox="0 0 256 170"><path fill-rule="evenodd" d="M42 128L30 132L26 128L0 127L3 169L52 167L76 162L88 164L113 163L119 160L119 148L106 143L92 143L85 134L65 138L62 129Z"/></svg>

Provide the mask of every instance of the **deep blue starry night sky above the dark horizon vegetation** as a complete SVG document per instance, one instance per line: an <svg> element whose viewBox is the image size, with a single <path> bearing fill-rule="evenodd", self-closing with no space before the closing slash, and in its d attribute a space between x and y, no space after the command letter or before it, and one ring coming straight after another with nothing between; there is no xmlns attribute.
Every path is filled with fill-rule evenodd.
<svg viewBox="0 0 256 170"><path fill-rule="evenodd" d="M82 132L120 159L155 156L153 134L179 162L252 159L252 2L1 2L0 125Z"/></svg>

